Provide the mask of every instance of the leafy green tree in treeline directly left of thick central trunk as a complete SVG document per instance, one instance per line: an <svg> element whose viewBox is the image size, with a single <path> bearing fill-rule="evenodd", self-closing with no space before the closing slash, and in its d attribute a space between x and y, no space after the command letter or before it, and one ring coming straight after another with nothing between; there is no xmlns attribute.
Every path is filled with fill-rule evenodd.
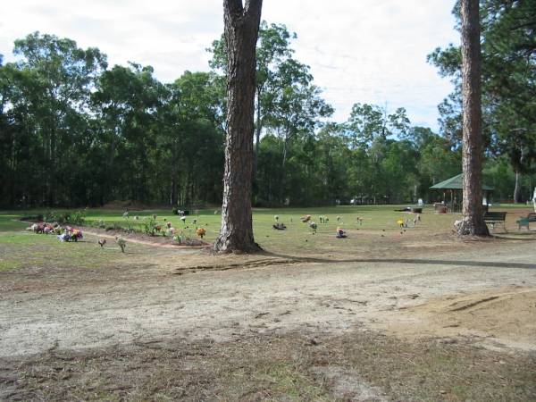
<svg viewBox="0 0 536 402"><path fill-rule="evenodd" d="M222 95L217 77L185 71L165 86L158 110L165 188L171 205L221 202Z"/></svg>

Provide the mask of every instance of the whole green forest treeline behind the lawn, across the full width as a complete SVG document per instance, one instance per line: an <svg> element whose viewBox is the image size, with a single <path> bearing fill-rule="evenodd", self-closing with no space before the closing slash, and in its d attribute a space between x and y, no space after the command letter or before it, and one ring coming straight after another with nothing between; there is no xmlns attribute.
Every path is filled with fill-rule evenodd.
<svg viewBox="0 0 536 402"><path fill-rule="evenodd" d="M523 201L536 185L536 4L481 4L484 178L495 199ZM347 121L332 121L312 71L294 56L294 38L284 25L261 24L254 205L440 197L430 186L461 172L459 48L429 55L456 88L434 133L413 125L404 105L357 99ZM221 203L223 38L208 50L210 71L163 83L150 66L110 67L99 49L68 38L35 32L15 41L17 61L0 57L0 206Z"/></svg>

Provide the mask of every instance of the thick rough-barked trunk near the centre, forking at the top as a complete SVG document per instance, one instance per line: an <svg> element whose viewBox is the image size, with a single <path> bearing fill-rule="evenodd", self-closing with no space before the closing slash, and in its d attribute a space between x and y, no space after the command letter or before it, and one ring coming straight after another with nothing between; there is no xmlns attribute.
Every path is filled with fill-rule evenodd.
<svg viewBox="0 0 536 402"><path fill-rule="evenodd" d="M218 252L254 252L251 191L253 172L255 46L262 0L223 0L227 46L227 138L223 173L222 229Z"/></svg>

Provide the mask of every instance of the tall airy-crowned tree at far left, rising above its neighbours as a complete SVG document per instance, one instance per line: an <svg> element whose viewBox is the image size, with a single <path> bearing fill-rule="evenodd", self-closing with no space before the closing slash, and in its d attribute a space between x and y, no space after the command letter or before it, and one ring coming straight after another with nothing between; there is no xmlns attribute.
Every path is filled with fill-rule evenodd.
<svg viewBox="0 0 536 402"><path fill-rule="evenodd" d="M20 56L13 66L24 94L20 100L33 119L45 157L46 202L64 204L69 200L57 196L68 194L62 187L77 173L65 156L77 142L75 137L86 130L87 120L81 115L88 111L89 94L106 68L106 56L96 48L81 49L71 39L38 32L16 40L13 53Z"/></svg>

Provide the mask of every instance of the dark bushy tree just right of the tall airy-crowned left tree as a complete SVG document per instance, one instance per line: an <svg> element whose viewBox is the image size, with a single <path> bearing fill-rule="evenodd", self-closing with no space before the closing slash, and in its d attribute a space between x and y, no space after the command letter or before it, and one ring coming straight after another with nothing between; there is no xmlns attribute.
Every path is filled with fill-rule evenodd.
<svg viewBox="0 0 536 402"><path fill-rule="evenodd" d="M102 124L100 169L108 199L149 202L155 190L156 111L162 84L153 68L113 66L96 83L93 107Z"/></svg>

